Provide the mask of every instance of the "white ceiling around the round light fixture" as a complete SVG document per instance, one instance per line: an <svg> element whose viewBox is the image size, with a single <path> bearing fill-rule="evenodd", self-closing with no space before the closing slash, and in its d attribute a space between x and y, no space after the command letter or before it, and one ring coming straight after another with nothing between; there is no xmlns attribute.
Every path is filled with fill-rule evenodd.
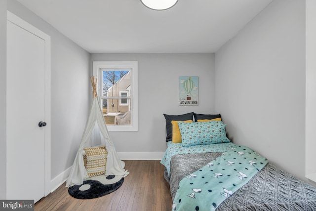
<svg viewBox="0 0 316 211"><path fill-rule="evenodd" d="M90 53L216 52L272 0L18 0Z"/></svg>

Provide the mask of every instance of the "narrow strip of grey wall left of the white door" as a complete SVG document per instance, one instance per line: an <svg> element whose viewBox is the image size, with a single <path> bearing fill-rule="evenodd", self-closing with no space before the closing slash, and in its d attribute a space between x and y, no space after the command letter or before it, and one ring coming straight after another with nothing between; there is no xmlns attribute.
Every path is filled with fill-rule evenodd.
<svg viewBox="0 0 316 211"><path fill-rule="evenodd" d="M6 7L0 0L0 199L6 197Z"/></svg>

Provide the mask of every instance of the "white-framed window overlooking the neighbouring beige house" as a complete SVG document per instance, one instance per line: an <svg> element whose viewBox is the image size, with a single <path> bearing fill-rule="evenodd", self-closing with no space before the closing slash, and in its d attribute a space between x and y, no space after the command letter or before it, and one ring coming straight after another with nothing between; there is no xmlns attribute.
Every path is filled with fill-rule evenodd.
<svg viewBox="0 0 316 211"><path fill-rule="evenodd" d="M109 131L138 131L137 70L137 61L93 62L98 97Z"/></svg>

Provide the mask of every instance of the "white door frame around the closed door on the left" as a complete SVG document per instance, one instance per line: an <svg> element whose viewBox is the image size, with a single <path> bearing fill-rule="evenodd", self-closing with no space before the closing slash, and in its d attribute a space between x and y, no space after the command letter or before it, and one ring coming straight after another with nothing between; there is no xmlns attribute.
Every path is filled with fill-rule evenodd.
<svg viewBox="0 0 316 211"><path fill-rule="evenodd" d="M50 106L50 98L51 98L51 82L50 82L50 36L40 31L38 28L29 24L25 20L16 16L10 11L6 11L7 21L25 29L26 31L34 34L35 36L41 38L44 41L45 45L45 122L47 123L45 127L45 196L47 196L51 191L51 106Z"/></svg>

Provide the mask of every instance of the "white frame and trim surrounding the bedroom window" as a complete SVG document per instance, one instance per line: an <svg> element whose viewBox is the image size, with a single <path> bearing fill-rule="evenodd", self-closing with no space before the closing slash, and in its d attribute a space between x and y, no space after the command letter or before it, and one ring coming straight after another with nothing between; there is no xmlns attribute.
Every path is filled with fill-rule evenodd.
<svg viewBox="0 0 316 211"><path fill-rule="evenodd" d="M93 62L93 76L98 79L97 93L100 99L102 93L102 86L100 83L100 72L102 69L126 69L131 70L131 91L129 99L132 103L131 109L131 125L107 125L109 131L138 131L138 62L137 61L94 61ZM102 77L102 76L101 76ZM101 100L100 106L101 105Z"/></svg>

